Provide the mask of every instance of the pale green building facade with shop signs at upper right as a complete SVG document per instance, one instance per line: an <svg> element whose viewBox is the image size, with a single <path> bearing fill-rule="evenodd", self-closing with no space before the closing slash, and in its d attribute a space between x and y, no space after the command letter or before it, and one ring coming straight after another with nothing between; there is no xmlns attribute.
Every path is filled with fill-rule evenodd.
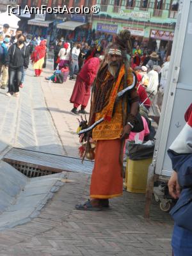
<svg viewBox="0 0 192 256"><path fill-rule="evenodd" d="M115 35L129 29L136 42L150 48L172 45L179 0L97 0L100 13L92 27Z"/></svg>

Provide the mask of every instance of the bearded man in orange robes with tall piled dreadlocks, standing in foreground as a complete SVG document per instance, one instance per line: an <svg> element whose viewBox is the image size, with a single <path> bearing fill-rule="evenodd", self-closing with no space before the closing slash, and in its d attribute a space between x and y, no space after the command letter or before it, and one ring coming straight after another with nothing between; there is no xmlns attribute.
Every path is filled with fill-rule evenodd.
<svg viewBox="0 0 192 256"><path fill-rule="evenodd" d="M100 211L109 207L109 198L123 193L124 143L131 129L136 127L138 113L138 93L134 87L136 84L133 83L132 69L127 68L129 63L126 54L132 54L131 33L124 29L116 36L115 42L109 45L105 62L99 68L93 84L89 125L96 125L95 122L100 118L104 118L104 122L97 123L92 134L89 132L92 140L96 141L91 200L76 205L77 210ZM127 86L132 88L129 97L125 93L117 101L117 93ZM128 99L128 108L124 104L125 99ZM87 140L90 139L87 137Z"/></svg>

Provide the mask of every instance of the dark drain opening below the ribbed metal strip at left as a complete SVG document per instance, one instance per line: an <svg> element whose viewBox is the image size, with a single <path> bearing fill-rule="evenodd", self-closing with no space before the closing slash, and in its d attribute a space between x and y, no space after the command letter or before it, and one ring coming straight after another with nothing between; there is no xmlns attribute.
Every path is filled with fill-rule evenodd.
<svg viewBox="0 0 192 256"><path fill-rule="evenodd" d="M36 166L36 164L24 163L6 158L4 158L3 161L12 165L13 168L15 168L16 170L18 170L19 172L21 172L22 174L26 175L29 178L35 178L58 173L58 171L56 170L47 170L47 166ZM60 172L62 172L62 170Z"/></svg>

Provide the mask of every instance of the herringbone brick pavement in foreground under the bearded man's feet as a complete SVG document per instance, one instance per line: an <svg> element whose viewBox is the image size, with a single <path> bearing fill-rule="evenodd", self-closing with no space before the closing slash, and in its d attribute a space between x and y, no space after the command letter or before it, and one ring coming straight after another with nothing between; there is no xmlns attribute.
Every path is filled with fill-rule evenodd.
<svg viewBox="0 0 192 256"><path fill-rule="evenodd" d="M155 202L150 220L143 218L144 195L128 192L109 210L76 211L88 198L90 176L67 173L67 179L38 218L0 232L1 256L170 255L173 222Z"/></svg>

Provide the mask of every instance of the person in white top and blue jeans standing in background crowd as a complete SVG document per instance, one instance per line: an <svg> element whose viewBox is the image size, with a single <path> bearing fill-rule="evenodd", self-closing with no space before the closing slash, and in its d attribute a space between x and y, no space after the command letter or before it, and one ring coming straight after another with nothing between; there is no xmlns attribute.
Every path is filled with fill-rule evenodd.
<svg viewBox="0 0 192 256"><path fill-rule="evenodd" d="M77 75L79 71L79 64L78 64L78 58L81 51L81 44L77 43L71 52L70 57L70 77L69 80L74 79L74 74Z"/></svg>

